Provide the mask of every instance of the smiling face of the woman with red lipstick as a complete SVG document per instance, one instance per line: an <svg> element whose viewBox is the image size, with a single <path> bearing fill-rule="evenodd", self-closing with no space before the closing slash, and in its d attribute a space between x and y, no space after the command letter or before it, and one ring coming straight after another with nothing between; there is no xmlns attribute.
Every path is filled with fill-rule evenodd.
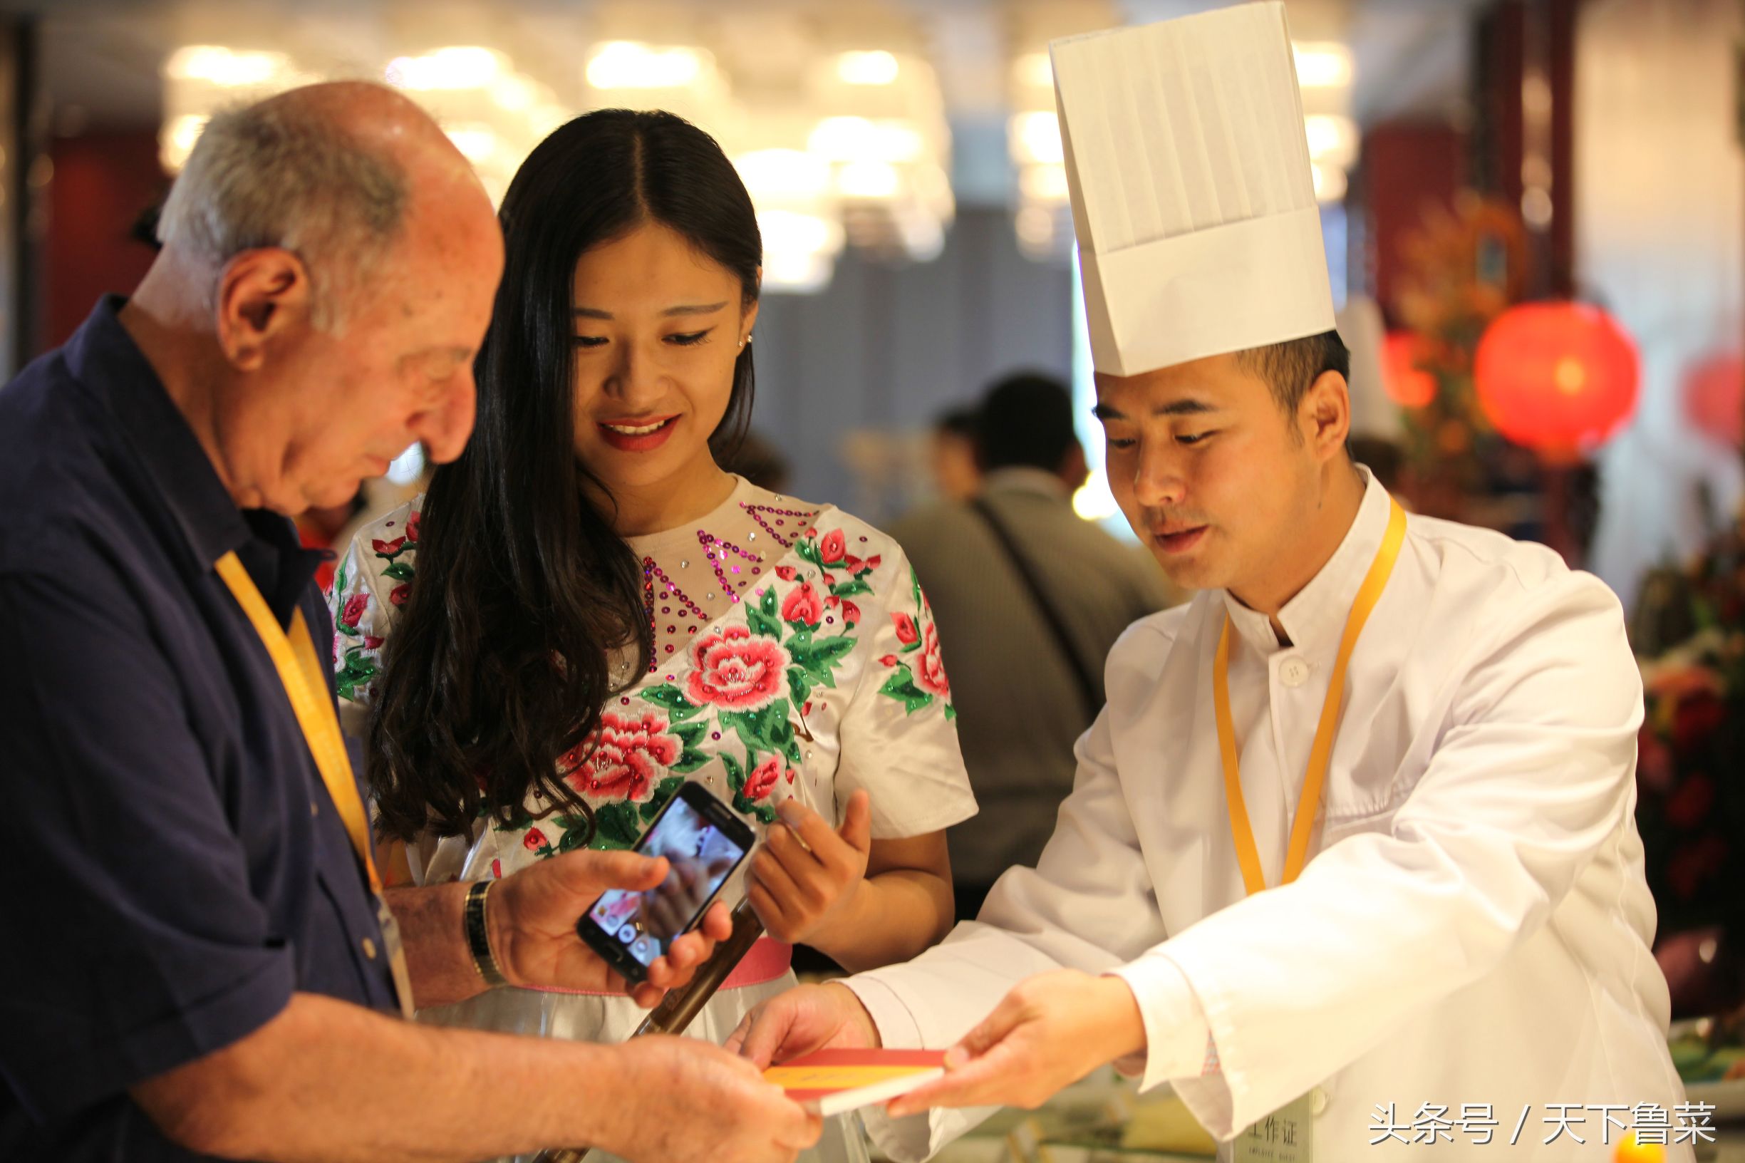
<svg viewBox="0 0 1745 1163"><path fill-rule="evenodd" d="M708 471L708 437L757 318L719 262L646 222L583 253L574 278L576 456L609 491Z"/></svg>

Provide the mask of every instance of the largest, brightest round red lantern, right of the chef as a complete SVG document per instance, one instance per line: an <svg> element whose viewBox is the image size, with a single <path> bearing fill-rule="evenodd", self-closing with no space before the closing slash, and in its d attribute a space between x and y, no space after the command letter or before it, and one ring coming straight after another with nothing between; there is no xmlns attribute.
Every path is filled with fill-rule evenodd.
<svg viewBox="0 0 1745 1163"><path fill-rule="evenodd" d="M1637 402L1635 344L1598 307L1529 302L1478 341L1473 386L1499 433L1550 459L1605 444Z"/></svg>

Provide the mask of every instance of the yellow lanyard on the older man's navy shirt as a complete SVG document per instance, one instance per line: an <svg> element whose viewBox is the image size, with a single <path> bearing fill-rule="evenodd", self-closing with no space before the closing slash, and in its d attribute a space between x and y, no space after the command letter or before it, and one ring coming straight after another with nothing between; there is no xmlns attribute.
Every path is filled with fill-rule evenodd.
<svg viewBox="0 0 1745 1163"><path fill-rule="evenodd" d="M375 859L370 856L370 822L363 812L363 796L358 795L358 782L351 775L351 756L346 754L346 739L339 732L339 716L333 712L326 674L316 655L314 639L309 637L304 611L298 609L291 616L291 632L286 636L234 550L218 559L218 576L236 594L237 604L267 646L272 665L279 669L279 681L291 700L297 725L304 728L304 740L316 760L316 768L321 770L321 782L326 784L328 796L346 824L346 835L351 836L351 847L370 877L370 891L380 896L382 878L375 875Z"/></svg>

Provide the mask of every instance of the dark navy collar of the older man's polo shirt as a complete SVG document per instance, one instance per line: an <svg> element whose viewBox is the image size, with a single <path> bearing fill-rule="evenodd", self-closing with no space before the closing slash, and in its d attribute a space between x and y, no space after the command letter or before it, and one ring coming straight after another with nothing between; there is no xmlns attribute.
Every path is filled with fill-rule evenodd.
<svg viewBox="0 0 1745 1163"><path fill-rule="evenodd" d="M94 391L174 515L201 566L244 545L253 531L211 458L169 398L152 363L120 325L127 300L105 295L66 342L73 379Z"/></svg>

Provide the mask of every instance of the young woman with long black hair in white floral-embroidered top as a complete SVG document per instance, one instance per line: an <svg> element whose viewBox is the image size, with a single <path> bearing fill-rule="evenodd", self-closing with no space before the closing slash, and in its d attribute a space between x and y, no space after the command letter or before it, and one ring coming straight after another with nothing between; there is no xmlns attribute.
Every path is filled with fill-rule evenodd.
<svg viewBox="0 0 1745 1163"><path fill-rule="evenodd" d="M761 243L708 134L578 117L501 217L476 431L352 541L340 695L426 882L626 847L684 781L752 821L722 899L770 939L691 1029L719 1043L792 980L789 943L859 969L949 929L942 829L975 805L939 637L893 541L717 465L752 403ZM642 1015L499 988L428 1016L616 1041ZM864 1158L841 1126L824 1149Z"/></svg>

